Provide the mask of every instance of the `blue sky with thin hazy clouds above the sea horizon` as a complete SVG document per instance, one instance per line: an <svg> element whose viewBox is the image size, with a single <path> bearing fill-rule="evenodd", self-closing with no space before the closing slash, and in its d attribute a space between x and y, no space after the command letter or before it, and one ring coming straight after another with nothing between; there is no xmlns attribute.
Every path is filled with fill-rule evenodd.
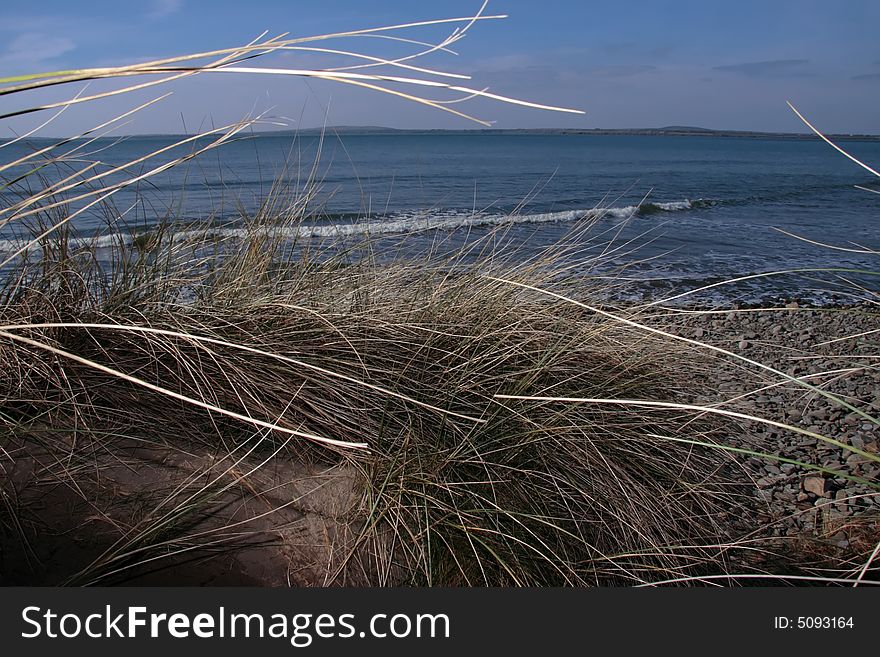
<svg viewBox="0 0 880 657"><path fill-rule="evenodd" d="M470 15L479 0L144 0L3 3L0 75L106 66L223 48L263 30L292 36ZM458 56L424 65L473 75L471 86L585 110L553 114L479 101L468 109L497 127L656 127L800 131L791 99L822 129L880 133L880 26L877 0L625 1L492 0L501 21L476 25ZM419 30L437 38L449 28ZM328 42L329 45L329 42ZM333 43L342 47L343 43ZM377 55L399 44L349 42ZM313 68L338 58L286 53L266 66ZM103 89L93 83L90 91ZM69 97L81 87L41 92ZM158 95L128 94L71 109L50 134L89 127ZM292 126L478 127L427 107L327 82L275 76L204 75L169 85L173 96L138 114L122 132L179 132L221 124L251 111ZM22 98L0 99L0 111ZM41 116L39 120L45 119ZM21 131L37 117L7 121Z"/></svg>

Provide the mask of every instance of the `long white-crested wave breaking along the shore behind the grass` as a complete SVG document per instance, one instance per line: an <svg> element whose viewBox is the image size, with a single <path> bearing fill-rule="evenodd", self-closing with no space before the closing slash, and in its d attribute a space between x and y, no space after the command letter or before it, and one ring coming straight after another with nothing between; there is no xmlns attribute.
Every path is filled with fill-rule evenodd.
<svg viewBox="0 0 880 657"><path fill-rule="evenodd" d="M293 240L304 238L344 238L368 235L400 235L421 233L426 231L453 231L467 228L491 228L511 224L566 224L584 220L603 218L626 220L636 216L649 216L660 213L683 212L697 207L709 207L709 201L681 200L656 203L641 203L621 207L598 207L579 210L561 210L556 212L535 213L485 213L462 212L455 210L433 210L428 212L397 212L388 215L372 216L360 221L349 219L309 223L303 222L286 228L267 228L273 234L280 234ZM351 217L351 215L348 215ZM335 219L335 220L334 220ZM223 238L243 238L253 233L252 228L218 227L200 228L198 230L181 228L174 234L175 239L183 241L213 240ZM111 248L119 244L130 245L138 239L131 233L110 233L93 237L82 237L76 240L79 246L98 249ZM0 240L0 253L10 253L22 248L24 240Z"/></svg>

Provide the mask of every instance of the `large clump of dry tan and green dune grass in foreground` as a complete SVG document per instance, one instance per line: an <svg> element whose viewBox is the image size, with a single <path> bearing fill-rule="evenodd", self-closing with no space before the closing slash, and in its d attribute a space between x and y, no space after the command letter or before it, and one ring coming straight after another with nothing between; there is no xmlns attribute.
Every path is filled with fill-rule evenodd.
<svg viewBox="0 0 880 657"><path fill-rule="evenodd" d="M48 538L70 528L27 503L51 489L72 509L65 520L101 527L94 549L53 574L71 583L182 572L182 559L211 570L221 548L233 562L283 553L311 584L585 585L725 569L743 504L730 462L666 439L712 443L717 422L503 398L689 394L668 341L499 281L597 293L565 274L576 241L520 264L486 246L498 235L467 253L389 262L359 245L304 259L268 248L282 240L265 228L210 267L181 259L145 274L138 246L119 246L127 264L114 271L137 289L112 274L82 284L97 265L71 245L10 277L4 446L31 463L7 490L20 502L3 523L16 559L68 540ZM177 248L166 238L157 258L176 262ZM315 477L345 484L241 516ZM315 517L333 540L314 535Z"/></svg>

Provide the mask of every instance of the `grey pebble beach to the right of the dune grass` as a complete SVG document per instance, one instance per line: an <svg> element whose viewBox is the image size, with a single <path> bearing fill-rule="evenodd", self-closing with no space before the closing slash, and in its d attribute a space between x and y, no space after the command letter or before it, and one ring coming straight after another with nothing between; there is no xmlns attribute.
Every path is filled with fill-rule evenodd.
<svg viewBox="0 0 880 657"><path fill-rule="evenodd" d="M804 308L791 302L775 309L688 313L677 315L669 330L801 378L868 416L880 411L880 330L877 315L865 306ZM771 457L736 457L744 480L753 483L759 525L772 536L809 536L850 548L847 528L853 520L880 513L880 496L864 483L880 478L880 466L845 446L877 454L877 424L771 372L731 358L708 358L700 369L704 393L695 403L722 402L722 408L842 444L741 422L730 444Z"/></svg>

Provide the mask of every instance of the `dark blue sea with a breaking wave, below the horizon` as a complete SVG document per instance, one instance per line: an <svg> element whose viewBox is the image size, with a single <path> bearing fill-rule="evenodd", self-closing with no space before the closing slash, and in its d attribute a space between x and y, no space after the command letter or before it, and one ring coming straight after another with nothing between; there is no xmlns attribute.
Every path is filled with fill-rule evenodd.
<svg viewBox="0 0 880 657"><path fill-rule="evenodd" d="M71 157L95 172L171 144L163 136L100 139ZM201 142L198 142L201 143ZM0 162L46 142L0 148ZM841 145L877 166L880 142ZM191 148L190 145L188 148ZM69 150L70 147L68 147ZM171 151L129 169L146 171ZM7 178L14 171L6 172ZM50 174L60 175L59 173ZM110 176L108 180L113 180ZM575 134L400 133L255 135L144 180L73 220L82 239L109 244L173 216L241 231L273 182L313 190L300 242L361 234L408 249L457 245L507 226L520 257L594 224L580 257L590 274L632 280L622 294L649 298L770 271L837 269L753 278L689 297L694 303L817 303L876 290L880 180L814 140ZM2 192L3 205L13 200ZM23 237L0 232L0 251ZM785 231L785 232L782 232ZM786 234L788 233L788 234ZM797 236L797 237L795 237ZM802 239L799 239L802 238ZM820 244L816 244L820 243ZM866 296L866 292L856 297Z"/></svg>

